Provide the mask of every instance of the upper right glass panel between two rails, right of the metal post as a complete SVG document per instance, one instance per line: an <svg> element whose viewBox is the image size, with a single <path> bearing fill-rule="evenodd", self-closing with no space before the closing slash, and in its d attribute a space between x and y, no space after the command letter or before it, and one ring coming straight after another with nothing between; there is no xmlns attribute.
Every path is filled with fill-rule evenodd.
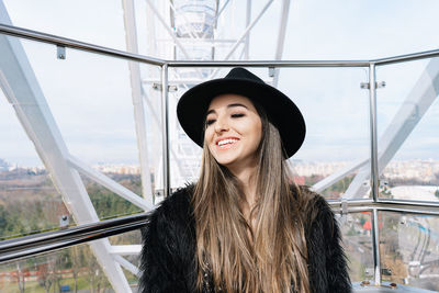
<svg viewBox="0 0 439 293"><path fill-rule="evenodd" d="M439 59L380 67L378 90L382 198L439 200Z"/></svg>

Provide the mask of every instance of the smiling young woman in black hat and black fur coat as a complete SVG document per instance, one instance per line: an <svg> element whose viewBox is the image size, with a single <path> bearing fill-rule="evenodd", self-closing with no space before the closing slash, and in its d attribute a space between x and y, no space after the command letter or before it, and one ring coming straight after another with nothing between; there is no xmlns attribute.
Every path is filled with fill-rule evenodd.
<svg viewBox="0 0 439 293"><path fill-rule="evenodd" d="M285 164L305 137L295 104L234 68L177 113L203 147L201 173L143 229L139 292L350 292L334 213Z"/></svg>

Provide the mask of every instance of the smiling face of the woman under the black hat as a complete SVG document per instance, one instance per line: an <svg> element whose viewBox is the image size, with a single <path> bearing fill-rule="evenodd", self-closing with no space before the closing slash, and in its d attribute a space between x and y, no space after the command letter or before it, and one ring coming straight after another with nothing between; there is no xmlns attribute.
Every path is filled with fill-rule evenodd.
<svg viewBox="0 0 439 293"><path fill-rule="evenodd" d="M261 137L262 123L248 98L227 93L212 100L204 140L218 164L228 169L255 167Z"/></svg>

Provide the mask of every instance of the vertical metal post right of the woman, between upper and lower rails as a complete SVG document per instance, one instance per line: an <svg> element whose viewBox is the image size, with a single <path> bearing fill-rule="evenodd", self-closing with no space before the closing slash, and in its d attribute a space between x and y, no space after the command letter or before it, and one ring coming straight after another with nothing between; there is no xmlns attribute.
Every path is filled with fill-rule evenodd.
<svg viewBox="0 0 439 293"><path fill-rule="evenodd" d="M370 135L371 135L371 191L374 202L379 195L378 135L376 135L376 78L375 64L369 65Z"/></svg>

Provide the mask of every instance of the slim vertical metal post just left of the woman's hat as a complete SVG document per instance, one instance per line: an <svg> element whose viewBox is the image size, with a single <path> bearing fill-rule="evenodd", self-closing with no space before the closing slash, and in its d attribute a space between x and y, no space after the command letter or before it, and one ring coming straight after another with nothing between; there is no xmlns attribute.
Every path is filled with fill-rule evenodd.
<svg viewBox="0 0 439 293"><path fill-rule="evenodd" d="M169 171L169 99L168 99L168 65L161 66L161 132L164 153L164 195L170 195Z"/></svg>

